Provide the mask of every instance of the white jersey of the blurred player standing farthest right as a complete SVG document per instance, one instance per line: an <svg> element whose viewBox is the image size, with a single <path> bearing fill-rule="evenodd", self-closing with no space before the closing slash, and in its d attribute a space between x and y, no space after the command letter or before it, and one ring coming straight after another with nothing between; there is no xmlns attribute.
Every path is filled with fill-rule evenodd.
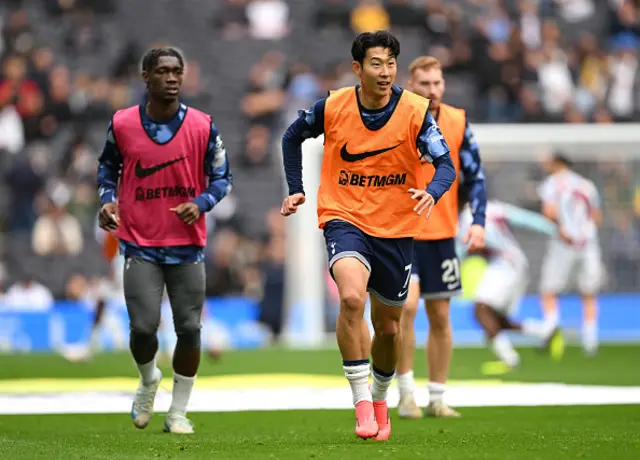
<svg viewBox="0 0 640 460"><path fill-rule="evenodd" d="M566 169L547 177L538 194L543 204L555 206L560 229L577 245L597 241L594 210L600 209L600 195L593 182Z"/></svg>

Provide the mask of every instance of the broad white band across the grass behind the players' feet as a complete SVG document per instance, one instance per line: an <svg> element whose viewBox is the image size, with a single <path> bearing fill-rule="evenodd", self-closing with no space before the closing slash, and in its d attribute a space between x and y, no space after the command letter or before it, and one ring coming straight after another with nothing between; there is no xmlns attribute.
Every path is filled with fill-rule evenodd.
<svg viewBox="0 0 640 460"><path fill-rule="evenodd" d="M0 394L0 414L129 413L132 398L132 393ZM416 400L420 406L425 406L428 402L427 390L416 390ZM396 389L389 391L388 401L390 406L397 405ZM455 386L447 391L445 401L454 407L640 404L640 387L556 383ZM167 411L170 402L171 393L160 391L156 398L155 410ZM348 388L196 390L189 403L190 412L351 407L351 392Z"/></svg>

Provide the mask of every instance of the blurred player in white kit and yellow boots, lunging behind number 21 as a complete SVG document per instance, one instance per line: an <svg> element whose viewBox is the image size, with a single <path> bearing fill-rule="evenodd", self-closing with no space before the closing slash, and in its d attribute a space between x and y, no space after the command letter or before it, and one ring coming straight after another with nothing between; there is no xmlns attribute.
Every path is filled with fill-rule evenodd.
<svg viewBox="0 0 640 460"><path fill-rule="evenodd" d="M460 215L458 235L464 235L472 223L469 206L465 206ZM538 213L495 200L487 203L483 252L488 265L473 296L474 314L500 361L486 363L483 366L485 373L504 372L520 364L520 356L506 331L531 335L544 343L555 341L558 345L554 348L562 347L562 336L555 326L535 319L525 319L520 324L513 319L527 288L529 274L527 257L510 230L516 226L548 235L555 232L554 224ZM458 241L458 252L461 258L467 255L462 241Z"/></svg>

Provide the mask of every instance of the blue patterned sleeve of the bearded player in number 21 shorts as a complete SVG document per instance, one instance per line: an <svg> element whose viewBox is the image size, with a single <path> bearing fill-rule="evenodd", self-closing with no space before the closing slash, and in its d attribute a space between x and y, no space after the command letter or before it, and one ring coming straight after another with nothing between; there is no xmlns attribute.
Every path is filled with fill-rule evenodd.
<svg viewBox="0 0 640 460"><path fill-rule="evenodd" d="M484 170L480 161L480 148L467 122L462 147L460 148L460 169L463 184L469 191L469 204L473 214L473 224L484 227L487 212L487 190Z"/></svg>

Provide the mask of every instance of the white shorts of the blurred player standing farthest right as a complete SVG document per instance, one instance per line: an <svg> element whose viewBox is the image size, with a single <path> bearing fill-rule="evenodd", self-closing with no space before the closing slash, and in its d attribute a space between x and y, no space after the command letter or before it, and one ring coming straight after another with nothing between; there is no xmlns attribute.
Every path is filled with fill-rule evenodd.
<svg viewBox="0 0 640 460"><path fill-rule="evenodd" d="M597 293L604 279L600 246L593 243L579 249L551 240L542 262L540 291L559 294L567 288L574 272L580 294Z"/></svg>

